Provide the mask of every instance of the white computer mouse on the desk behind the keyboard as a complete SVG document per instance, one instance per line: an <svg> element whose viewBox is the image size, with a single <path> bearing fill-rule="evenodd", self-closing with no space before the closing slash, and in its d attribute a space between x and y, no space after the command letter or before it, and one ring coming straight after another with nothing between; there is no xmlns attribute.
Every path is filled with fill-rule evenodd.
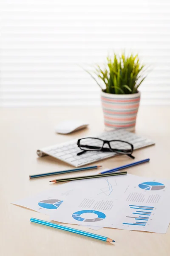
<svg viewBox="0 0 170 256"><path fill-rule="evenodd" d="M56 132L59 134L69 134L71 132L86 128L87 126L88 123L81 120L67 120L57 125Z"/></svg>

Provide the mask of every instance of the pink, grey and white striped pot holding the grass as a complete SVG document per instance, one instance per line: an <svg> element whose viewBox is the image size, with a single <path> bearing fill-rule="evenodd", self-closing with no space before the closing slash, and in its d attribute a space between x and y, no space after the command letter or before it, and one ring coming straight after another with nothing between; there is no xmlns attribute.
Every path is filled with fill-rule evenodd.
<svg viewBox="0 0 170 256"><path fill-rule="evenodd" d="M111 94L101 92L106 130L135 130L140 92L134 94Z"/></svg>

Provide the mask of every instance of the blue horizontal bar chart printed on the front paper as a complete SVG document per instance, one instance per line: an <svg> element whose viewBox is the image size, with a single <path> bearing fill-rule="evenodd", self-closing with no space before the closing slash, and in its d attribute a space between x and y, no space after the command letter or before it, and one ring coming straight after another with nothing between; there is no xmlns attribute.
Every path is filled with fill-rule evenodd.
<svg viewBox="0 0 170 256"><path fill-rule="evenodd" d="M132 209L132 212L129 216L126 216L127 222L123 222L123 224L133 226L146 226L154 207L133 204L130 204L129 207Z"/></svg>

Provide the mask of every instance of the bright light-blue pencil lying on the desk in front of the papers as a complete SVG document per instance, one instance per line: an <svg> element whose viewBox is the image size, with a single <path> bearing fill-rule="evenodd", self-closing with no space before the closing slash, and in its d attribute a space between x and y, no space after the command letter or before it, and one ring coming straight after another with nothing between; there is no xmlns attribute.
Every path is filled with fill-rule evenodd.
<svg viewBox="0 0 170 256"><path fill-rule="evenodd" d="M62 226L62 225L55 224L55 223L52 223L52 222L42 221L42 220L39 220L39 219L36 219L36 218L31 218L30 221L34 222L34 223L42 224L42 225L45 225L45 226L48 226L48 227L54 227L54 228L57 228L59 230L65 230L65 231L68 231L68 232L71 232L71 233L79 234L79 235L82 235L82 236L88 236L88 237L98 239L98 240L101 240L101 241L105 241L105 242L115 242L114 240L112 240L112 239L110 239L106 236L96 235L96 234L93 234L93 233L89 233L89 232L82 231L82 230L77 230L77 229L71 228L71 227Z"/></svg>

